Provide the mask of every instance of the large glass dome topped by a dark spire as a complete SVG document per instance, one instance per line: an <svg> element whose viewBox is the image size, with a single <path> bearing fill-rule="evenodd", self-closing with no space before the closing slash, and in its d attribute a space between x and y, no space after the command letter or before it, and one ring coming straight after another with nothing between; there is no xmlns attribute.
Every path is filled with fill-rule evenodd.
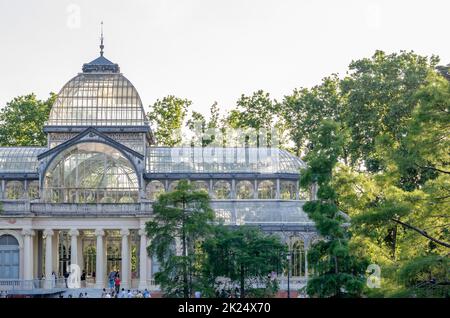
<svg viewBox="0 0 450 318"><path fill-rule="evenodd" d="M84 72L59 92L49 126L143 126L142 102L133 84L114 72Z"/></svg>

